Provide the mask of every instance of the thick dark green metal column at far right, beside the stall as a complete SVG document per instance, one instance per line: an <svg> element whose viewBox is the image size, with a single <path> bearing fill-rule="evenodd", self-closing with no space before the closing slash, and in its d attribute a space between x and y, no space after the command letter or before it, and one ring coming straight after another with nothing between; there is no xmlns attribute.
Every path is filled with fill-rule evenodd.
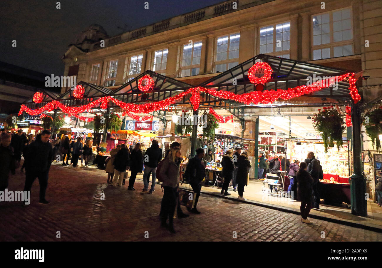
<svg viewBox="0 0 382 268"><path fill-rule="evenodd" d="M353 131L353 174L350 176L351 214L367 216L366 179L361 165L361 111L359 104L351 105Z"/></svg>

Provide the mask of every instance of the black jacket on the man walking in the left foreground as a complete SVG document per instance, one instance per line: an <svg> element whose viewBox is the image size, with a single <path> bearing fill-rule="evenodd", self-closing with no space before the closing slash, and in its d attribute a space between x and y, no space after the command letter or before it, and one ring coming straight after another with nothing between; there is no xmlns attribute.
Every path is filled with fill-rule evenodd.
<svg viewBox="0 0 382 268"><path fill-rule="evenodd" d="M52 165L53 150L50 142L42 142L41 137L28 145L24 151L25 169L41 173L49 171Z"/></svg>

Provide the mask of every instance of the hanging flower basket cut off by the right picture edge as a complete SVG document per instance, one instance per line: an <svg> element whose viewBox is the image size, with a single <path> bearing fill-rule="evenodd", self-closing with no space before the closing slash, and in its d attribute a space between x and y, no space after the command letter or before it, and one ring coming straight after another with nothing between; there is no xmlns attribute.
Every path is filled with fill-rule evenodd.
<svg viewBox="0 0 382 268"><path fill-rule="evenodd" d="M379 134L382 133L382 106L366 113L363 118L363 124L366 129L366 134L371 139L371 143L377 151L381 150L381 142Z"/></svg>

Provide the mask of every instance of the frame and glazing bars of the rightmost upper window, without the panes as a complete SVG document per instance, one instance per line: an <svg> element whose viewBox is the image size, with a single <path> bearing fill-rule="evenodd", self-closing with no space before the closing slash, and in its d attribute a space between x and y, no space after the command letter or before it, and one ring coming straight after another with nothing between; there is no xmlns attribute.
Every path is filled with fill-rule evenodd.
<svg viewBox="0 0 382 268"><path fill-rule="evenodd" d="M350 9L350 31L351 31L351 39L349 40L342 40L342 41L337 41L337 42L334 42L334 31L333 31L333 13L336 12L336 11L342 11L342 10L345 10L345 9ZM313 17L314 16L318 16L318 15L323 15L323 14L328 14L329 13L329 31L330 31L330 41L329 43L327 44L320 44L320 45L314 45L313 43L313 39L314 39L314 32L313 32L313 27L314 27L314 24L313 24ZM311 59L312 60L325 60L327 58L320 58L320 59L314 59L314 50L322 50L324 48L330 48L330 55L329 55L329 58L334 58L334 47L342 47L342 46L345 46L345 45L351 45L351 55L354 55L354 45L353 45L353 42L354 42L354 32L353 32L353 26L354 26L354 23L353 23L353 10L351 8L351 6L346 6L344 8L339 8L339 9L335 9L335 10L330 10L330 11L325 11L325 12L321 12L321 13L317 13L317 14L313 14L310 16L310 24L309 24L309 27L310 27L310 30L311 30L311 34L310 34L310 37L311 37ZM341 30L343 31L343 30ZM347 55L347 56L351 56L351 55ZM322 52L321 52L321 56L322 56ZM347 56L337 56L337 57L347 57Z"/></svg>

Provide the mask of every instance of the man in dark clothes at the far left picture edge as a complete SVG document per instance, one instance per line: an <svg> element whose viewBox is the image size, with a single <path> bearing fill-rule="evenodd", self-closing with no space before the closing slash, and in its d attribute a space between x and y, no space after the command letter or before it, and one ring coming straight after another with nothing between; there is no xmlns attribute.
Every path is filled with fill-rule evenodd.
<svg viewBox="0 0 382 268"><path fill-rule="evenodd" d="M11 136L3 135L0 144L0 191L8 187L10 173L15 174L15 156L10 146Z"/></svg>

